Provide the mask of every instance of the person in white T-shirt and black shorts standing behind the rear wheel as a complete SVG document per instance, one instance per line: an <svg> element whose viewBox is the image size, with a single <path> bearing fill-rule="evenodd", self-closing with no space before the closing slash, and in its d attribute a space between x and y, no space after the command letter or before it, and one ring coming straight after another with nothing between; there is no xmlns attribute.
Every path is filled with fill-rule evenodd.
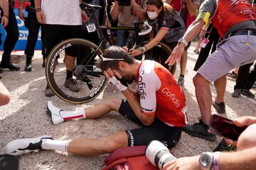
<svg viewBox="0 0 256 170"><path fill-rule="evenodd" d="M82 0L35 0L36 18L43 24L43 45L46 47L46 57L50 51L62 40L68 38L80 38L82 21L87 22L85 11L80 9ZM73 79L73 67L75 64L75 53L66 52L65 65L67 69L64 85L70 91L78 92L80 88ZM46 86L46 96L54 96L50 87Z"/></svg>

